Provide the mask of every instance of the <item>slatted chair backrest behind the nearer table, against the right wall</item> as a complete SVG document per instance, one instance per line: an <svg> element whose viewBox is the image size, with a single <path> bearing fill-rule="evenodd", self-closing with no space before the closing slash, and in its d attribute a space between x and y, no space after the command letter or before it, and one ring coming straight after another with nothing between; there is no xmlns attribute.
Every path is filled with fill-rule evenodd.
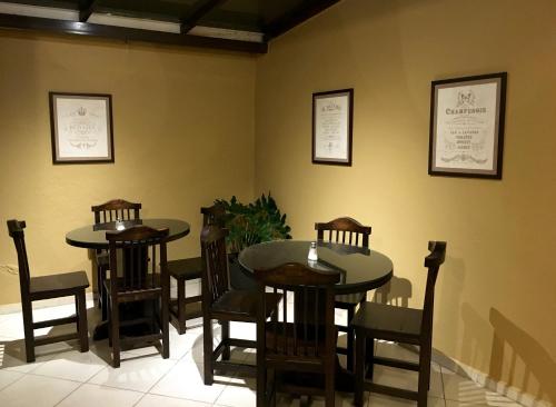
<svg viewBox="0 0 556 407"><path fill-rule="evenodd" d="M363 226L353 218L337 218L326 224L315 224L317 239L369 248L370 226ZM328 232L328 234L325 234Z"/></svg>

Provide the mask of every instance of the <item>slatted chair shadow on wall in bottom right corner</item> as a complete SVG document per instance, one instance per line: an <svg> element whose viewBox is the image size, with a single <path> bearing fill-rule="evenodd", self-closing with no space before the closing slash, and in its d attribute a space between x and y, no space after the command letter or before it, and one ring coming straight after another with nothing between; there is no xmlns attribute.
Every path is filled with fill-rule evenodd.
<svg viewBox="0 0 556 407"><path fill-rule="evenodd" d="M497 309L490 308L489 320L494 328L489 376L556 404L556 363L548 351Z"/></svg>

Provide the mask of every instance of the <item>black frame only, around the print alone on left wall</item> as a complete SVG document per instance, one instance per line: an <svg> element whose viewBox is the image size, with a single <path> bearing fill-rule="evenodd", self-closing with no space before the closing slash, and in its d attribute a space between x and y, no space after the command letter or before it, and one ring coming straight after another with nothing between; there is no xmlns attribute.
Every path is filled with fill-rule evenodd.
<svg viewBox="0 0 556 407"><path fill-rule="evenodd" d="M99 158L69 158L61 159L58 156L58 135L57 135L57 118L54 115L54 98L56 97L81 97L81 98L98 98L107 101L107 125L108 125L108 157ZM52 145L52 163L106 163L115 162L115 150L113 150L113 125L112 125L112 96L108 93L72 93L72 92L49 92L49 106L50 106L50 131L51 131L51 145Z"/></svg>

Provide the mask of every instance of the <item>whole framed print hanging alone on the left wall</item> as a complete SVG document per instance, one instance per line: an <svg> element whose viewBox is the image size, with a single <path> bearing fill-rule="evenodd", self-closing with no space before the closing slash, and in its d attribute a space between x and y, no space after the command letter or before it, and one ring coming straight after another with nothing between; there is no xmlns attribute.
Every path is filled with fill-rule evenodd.
<svg viewBox="0 0 556 407"><path fill-rule="evenodd" d="M112 97L50 92L52 162L113 162Z"/></svg>

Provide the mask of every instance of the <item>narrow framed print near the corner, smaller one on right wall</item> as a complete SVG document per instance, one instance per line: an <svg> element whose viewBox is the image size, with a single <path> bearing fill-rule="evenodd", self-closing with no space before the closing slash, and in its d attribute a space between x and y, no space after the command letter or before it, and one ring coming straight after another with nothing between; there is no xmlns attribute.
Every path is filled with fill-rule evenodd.
<svg viewBox="0 0 556 407"><path fill-rule="evenodd" d="M354 89L312 93L312 162L351 166Z"/></svg>

